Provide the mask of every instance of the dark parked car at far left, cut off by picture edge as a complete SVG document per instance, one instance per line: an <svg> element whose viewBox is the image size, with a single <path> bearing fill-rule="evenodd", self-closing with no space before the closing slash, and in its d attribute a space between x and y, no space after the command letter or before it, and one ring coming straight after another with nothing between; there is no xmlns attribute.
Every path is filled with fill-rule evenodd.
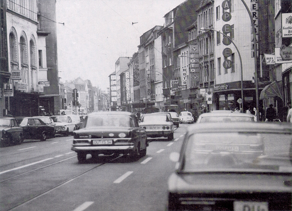
<svg viewBox="0 0 292 211"><path fill-rule="evenodd" d="M0 118L0 146L23 142L23 130L13 117Z"/></svg>

